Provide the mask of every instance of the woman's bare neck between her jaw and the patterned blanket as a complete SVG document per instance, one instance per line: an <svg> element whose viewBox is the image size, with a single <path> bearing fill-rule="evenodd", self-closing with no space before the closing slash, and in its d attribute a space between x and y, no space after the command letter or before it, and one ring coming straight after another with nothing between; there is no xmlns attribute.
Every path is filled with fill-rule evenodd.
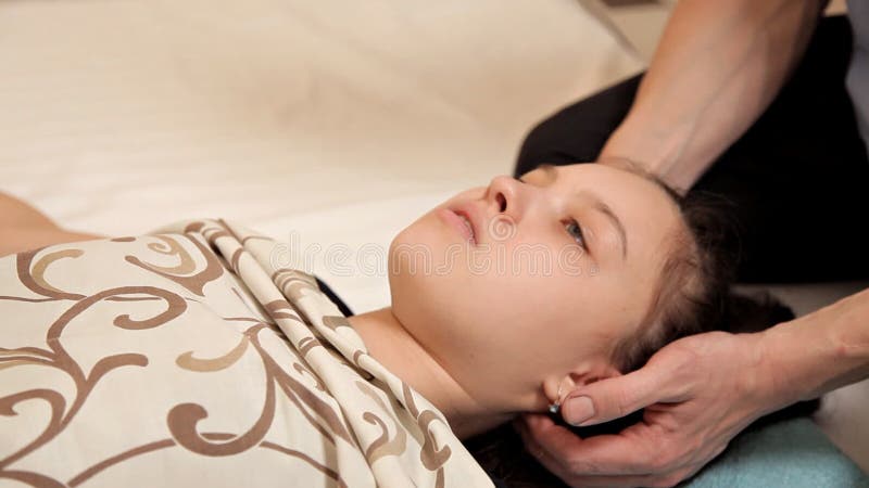
<svg viewBox="0 0 869 488"><path fill-rule="evenodd" d="M381 308L348 318L368 352L389 371L419 391L446 416L453 432L467 438L508 421L513 414L481 406L438 359L392 313Z"/></svg>

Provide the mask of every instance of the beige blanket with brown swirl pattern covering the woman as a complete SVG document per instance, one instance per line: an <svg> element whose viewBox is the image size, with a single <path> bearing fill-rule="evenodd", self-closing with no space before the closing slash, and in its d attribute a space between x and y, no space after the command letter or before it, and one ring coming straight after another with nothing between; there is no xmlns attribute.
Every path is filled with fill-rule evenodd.
<svg viewBox="0 0 869 488"><path fill-rule="evenodd" d="M277 244L199 220L0 259L0 486L492 486Z"/></svg>

